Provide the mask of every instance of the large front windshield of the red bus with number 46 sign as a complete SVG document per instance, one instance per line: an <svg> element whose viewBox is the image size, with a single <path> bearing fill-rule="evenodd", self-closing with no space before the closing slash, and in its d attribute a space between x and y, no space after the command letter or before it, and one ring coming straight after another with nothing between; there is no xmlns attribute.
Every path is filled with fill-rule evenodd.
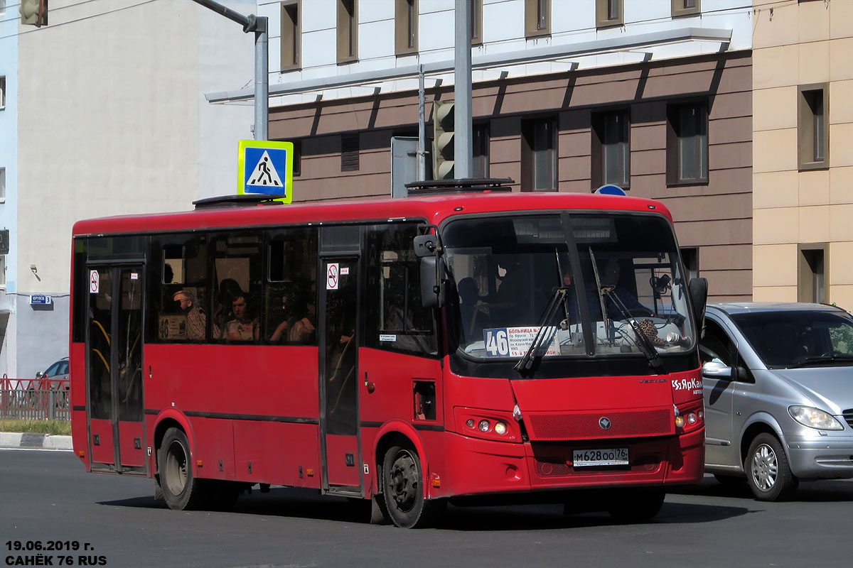
<svg viewBox="0 0 853 568"><path fill-rule="evenodd" d="M543 327L544 357L693 347L687 278L660 215L468 218L442 237L456 343L470 356L518 359Z"/></svg>

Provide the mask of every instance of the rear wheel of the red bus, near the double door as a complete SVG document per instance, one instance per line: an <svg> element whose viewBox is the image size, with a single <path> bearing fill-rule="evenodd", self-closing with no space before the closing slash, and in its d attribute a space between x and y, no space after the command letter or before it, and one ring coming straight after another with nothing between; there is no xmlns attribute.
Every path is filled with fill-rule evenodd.
<svg viewBox="0 0 853 568"><path fill-rule="evenodd" d="M203 480L193 475L187 434L176 427L169 428L157 453L165 504L177 511L198 507L203 497Z"/></svg>

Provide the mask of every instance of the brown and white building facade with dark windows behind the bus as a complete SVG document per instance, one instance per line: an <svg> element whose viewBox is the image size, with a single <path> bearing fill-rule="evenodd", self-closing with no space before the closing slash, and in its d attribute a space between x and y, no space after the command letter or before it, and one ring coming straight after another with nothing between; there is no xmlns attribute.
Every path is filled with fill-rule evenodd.
<svg viewBox="0 0 853 568"><path fill-rule="evenodd" d="M418 131L418 77L405 72L452 62L454 5L258 2L271 22L270 139L299 153L294 199L391 194L392 136ZM751 7L472 5L474 175L521 192L615 183L660 199L711 299L751 299ZM430 121L432 102L453 98L453 74L425 74Z"/></svg>

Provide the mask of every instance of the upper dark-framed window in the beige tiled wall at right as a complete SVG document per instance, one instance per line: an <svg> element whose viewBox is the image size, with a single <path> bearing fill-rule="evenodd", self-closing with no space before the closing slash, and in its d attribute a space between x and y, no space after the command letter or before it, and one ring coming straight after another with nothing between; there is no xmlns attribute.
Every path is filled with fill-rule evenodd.
<svg viewBox="0 0 853 568"><path fill-rule="evenodd" d="M829 86L801 85L798 89L797 158L799 169L829 167Z"/></svg>

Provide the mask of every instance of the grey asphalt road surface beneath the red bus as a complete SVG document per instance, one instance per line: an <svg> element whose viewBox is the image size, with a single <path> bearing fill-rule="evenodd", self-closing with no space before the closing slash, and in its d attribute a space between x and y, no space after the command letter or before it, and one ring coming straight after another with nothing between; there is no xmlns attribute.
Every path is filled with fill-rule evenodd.
<svg viewBox="0 0 853 568"><path fill-rule="evenodd" d="M556 506L454 508L438 528L358 521L340 498L273 489L234 512L170 511L150 479L84 473L67 451L0 450L0 558L9 542L77 541L71 555L107 566L820 566L849 565L853 482L804 483L793 502L753 501L712 478L667 496L651 523ZM105 562L105 564L104 564ZM14 565L14 564L12 564Z"/></svg>

